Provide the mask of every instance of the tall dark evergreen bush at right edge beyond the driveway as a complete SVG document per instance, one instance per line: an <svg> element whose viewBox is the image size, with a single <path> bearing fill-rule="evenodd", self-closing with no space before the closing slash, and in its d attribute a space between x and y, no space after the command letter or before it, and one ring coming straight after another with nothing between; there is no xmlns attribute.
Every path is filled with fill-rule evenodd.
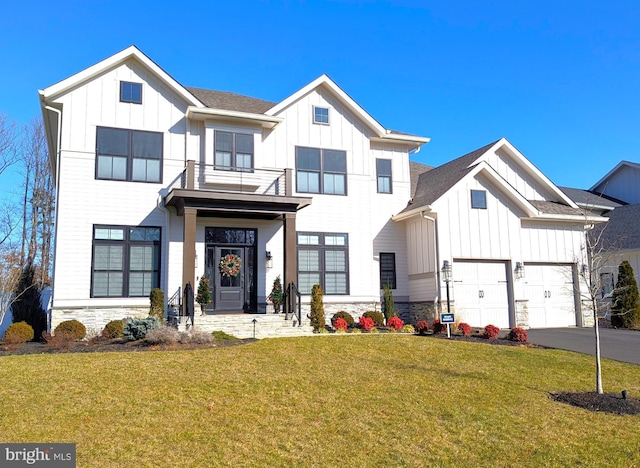
<svg viewBox="0 0 640 468"><path fill-rule="evenodd" d="M631 328L640 325L638 283L628 261L618 267L618 281L611 298L611 325Z"/></svg>

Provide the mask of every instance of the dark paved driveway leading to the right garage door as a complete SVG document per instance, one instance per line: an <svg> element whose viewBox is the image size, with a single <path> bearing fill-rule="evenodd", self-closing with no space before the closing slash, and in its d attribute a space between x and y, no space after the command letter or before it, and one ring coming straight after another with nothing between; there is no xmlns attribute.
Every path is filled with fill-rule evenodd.
<svg viewBox="0 0 640 468"><path fill-rule="evenodd" d="M529 343L592 356L596 353L593 328L539 328L527 333ZM605 358L640 365L640 332L601 328L600 352Z"/></svg>

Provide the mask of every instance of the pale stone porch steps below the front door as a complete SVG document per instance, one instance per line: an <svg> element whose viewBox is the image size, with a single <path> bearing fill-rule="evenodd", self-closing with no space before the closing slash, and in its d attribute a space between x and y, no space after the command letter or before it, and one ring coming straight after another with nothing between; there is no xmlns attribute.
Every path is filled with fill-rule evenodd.
<svg viewBox="0 0 640 468"><path fill-rule="evenodd" d="M285 320L284 314L228 314L228 315L195 315L194 328L206 332L223 331L237 338L253 338L255 320L255 338L277 338L282 336L306 336L313 334L309 319L303 316L302 326L298 326L297 319L290 317ZM190 326L191 321L182 321L180 330ZM295 324L295 325L294 325Z"/></svg>

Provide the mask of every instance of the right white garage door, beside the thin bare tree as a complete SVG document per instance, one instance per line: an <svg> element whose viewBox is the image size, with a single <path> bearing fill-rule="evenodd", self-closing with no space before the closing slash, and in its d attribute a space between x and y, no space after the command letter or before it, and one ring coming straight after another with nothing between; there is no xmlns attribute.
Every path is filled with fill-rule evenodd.
<svg viewBox="0 0 640 468"><path fill-rule="evenodd" d="M550 328L576 325L571 265L525 264L525 298L529 327Z"/></svg>

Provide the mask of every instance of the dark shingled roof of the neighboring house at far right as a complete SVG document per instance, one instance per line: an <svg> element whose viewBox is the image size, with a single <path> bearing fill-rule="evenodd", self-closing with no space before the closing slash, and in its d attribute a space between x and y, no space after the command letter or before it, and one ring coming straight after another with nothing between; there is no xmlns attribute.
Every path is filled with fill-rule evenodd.
<svg viewBox="0 0 640 468"><path fill-rule="evenodd" d="M640 249L640 204L620 206L605 216L609 221L596 225L592 234L597 236L604 230L601 237L604 249Z"/></svg>

